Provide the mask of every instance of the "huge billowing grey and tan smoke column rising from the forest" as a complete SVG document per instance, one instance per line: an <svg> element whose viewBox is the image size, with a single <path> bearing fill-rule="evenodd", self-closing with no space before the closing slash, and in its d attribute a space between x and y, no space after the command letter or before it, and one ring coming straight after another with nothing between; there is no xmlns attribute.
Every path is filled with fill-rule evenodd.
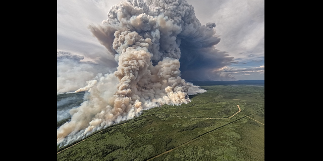
<svg viewBox="0 0 323 161"><path fill-rule="evenodd" d="M88 82L85 101L70 111L71 121L57 131L58 143L68 144L139 116L142 110L189 103L188 93L205 90L180 77L180 60L185 62L183 70L187 71L187 64L194 62L206 62L195 69L209 68L214 57L220 59L219 64L214 62L215 68L232 60L212 47L220 42L212 29L216 25L202 26L193 7L184 0L127 0L113 6L107 17L102 24L88 28L115 55L117 70L113 74L98 74ZM188 48L184 53L183 46Z"/></svg>

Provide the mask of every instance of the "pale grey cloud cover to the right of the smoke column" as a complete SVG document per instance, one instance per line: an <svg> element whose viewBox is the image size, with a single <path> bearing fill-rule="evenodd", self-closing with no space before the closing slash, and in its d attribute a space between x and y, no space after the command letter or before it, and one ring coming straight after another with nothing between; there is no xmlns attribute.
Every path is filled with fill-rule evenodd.
<svg viewBox="0 0 323 161"><path fill-rule="evenodd" d="M201 23L213 21L217 24L217 35L222 39L218 49L227 51L235 59L264 56L263 0L187 1L194 6Z"/></svg>

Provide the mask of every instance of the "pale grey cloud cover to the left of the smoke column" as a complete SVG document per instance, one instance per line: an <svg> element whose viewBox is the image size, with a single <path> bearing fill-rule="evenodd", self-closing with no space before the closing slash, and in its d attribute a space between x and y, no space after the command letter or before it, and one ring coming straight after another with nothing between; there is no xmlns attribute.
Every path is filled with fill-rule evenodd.
<svg viewBox="0 0 323 161"><path fill-rule="evenodd" d="M109 9L120 0L63 1L57 2L57 47L85 56L104 56L108 51L101 46L87 29L88 24L101 22ZM104 54L102 54L104 53Z"/></svg>

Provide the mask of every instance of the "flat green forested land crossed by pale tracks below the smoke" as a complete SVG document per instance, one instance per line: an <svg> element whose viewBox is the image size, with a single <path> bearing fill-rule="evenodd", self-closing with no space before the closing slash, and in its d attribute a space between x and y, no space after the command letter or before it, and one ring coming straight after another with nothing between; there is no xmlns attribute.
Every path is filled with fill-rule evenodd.
<svg viewBox="0 0 323 161"><path fill-rule="evenodd" d="M57 147L57 160L264 160L264 87L201 87L207 92L189 104L152 108Z"/></svg>

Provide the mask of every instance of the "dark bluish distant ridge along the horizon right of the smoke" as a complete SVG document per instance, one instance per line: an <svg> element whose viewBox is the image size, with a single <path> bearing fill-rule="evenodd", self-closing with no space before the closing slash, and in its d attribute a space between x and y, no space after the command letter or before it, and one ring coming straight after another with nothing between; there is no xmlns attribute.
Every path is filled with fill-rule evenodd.
<svg viewBox="0 0 323 161"><path fill-rule="evenodd" d="M191 81L196 86L231 86L231 85L257 85L264 86L264 80L238 80L238 81Z"/></svg>

